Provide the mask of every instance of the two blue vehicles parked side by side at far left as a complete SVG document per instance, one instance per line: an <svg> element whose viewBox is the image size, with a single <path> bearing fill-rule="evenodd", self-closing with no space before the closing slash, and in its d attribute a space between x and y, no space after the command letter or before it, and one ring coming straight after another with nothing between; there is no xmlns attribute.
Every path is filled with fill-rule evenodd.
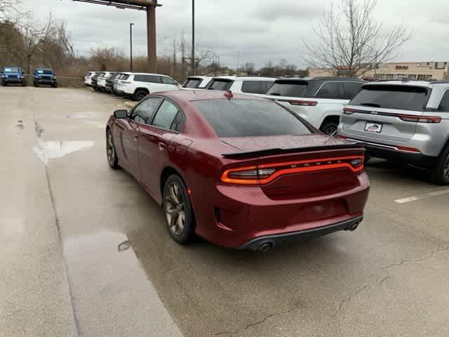
<svg viewBox="0 0 449 337"><path fill-rule="evenodd" d="M1 69L1 85L8 86L8 84L19 84L21 86L27 85L27 79L22 67L3 67ZM33 72L33 85L41 86L47 85L53 88L58 87L56 74L50 68L36 68Z"/></svg>

